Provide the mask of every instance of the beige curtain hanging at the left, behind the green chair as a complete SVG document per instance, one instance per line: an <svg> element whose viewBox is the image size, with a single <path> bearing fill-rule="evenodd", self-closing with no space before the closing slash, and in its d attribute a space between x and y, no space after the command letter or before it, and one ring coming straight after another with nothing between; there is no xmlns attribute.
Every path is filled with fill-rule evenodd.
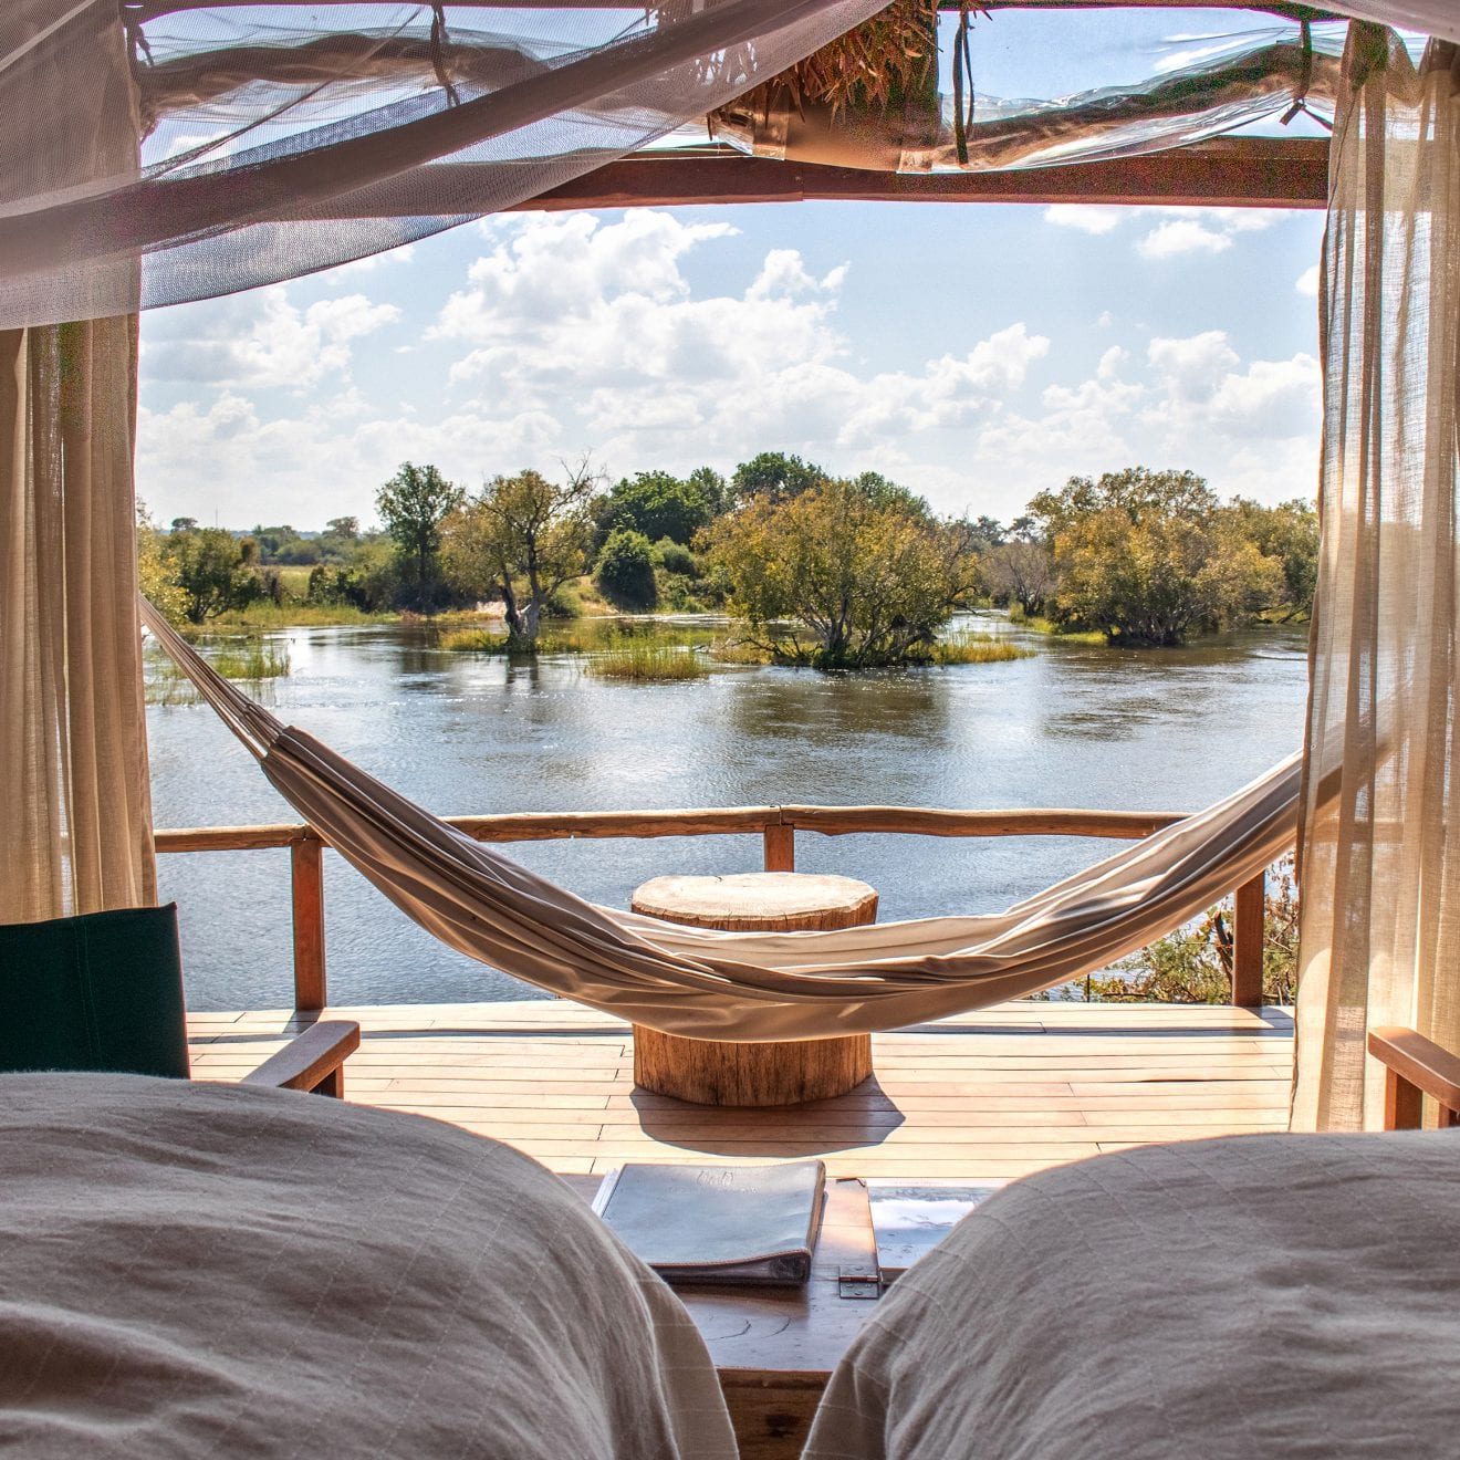
<svg viewBox="0 0 1460 1460"><path fill-rule="evenodd" d="M29 45L38 79L57 82L26 15L34 20L35 7L7 10L0 42L9 55ZM85 188L98 175L136 174L137 112L117 7L72 18L67 67L86 85L39 86L29 105L7 110L4 133L15 159L45 156ZM136 310L134 261L96 279L108 301ZM0 331L6 923L155 898L134 607L136 368L134 314Z"/></svg>

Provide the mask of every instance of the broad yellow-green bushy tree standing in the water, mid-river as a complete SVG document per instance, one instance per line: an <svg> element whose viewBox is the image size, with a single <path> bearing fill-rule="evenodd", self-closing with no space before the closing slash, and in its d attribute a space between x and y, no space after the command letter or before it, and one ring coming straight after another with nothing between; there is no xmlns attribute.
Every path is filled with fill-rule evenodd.
<svg viewBox="0 0 1460 1460"><path fill-rule="evenodd" d="M756 642L822 669L924 657L977 583L971 524L940 521L886 482L826 482L783 502L758 496L721 517L710 543Z"/></svg>

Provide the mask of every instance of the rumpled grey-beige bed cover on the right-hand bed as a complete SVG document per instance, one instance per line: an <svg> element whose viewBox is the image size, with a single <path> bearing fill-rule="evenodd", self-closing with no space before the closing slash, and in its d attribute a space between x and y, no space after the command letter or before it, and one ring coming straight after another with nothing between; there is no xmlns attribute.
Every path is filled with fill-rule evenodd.
<svg viewBox="0 0 1460 1460"><path fill-rule="evenodd" d="M1460 1454L1460 1133L1150 1146L898 1279L803 1460Z"/></svg>

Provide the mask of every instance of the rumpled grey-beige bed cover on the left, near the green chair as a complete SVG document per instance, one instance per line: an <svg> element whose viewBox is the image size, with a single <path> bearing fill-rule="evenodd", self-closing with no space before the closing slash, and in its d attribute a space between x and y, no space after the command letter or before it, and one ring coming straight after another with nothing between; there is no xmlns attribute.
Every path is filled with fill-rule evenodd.
<svg viewBox="0 0 1460 1460"><path fill-rule="evenodd" d="M730 1457L679 1301L542 1167L412 1115L0 1076L0 1450Z"/></svg>

